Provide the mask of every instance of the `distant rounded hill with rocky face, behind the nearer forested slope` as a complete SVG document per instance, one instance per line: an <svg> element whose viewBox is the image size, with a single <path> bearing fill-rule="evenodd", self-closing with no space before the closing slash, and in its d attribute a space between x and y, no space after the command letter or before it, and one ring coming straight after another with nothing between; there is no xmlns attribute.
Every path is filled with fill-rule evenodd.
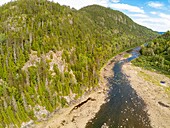
<svg viewBox="0 0 170 128"><path fill-rule="evenodd" d="M152 30L136 24L122 12L110 8L92 5L82 8L80 11L86 12L88 17L92 19L96 25L100 26L100 29L104 29L104 31L111 32L112 34L138 36L139 41L143 40L144 37L148 39L150 36L152 38L155 34Z"/></svg>

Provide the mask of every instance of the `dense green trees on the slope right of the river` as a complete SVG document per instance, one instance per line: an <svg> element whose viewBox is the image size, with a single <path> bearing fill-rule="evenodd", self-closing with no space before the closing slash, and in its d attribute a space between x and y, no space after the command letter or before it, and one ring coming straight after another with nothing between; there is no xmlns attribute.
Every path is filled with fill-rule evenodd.
<svg viewBox="0 0 170 128"><path fill-rule="evenodd" d="M141 56L133 61L135 65L170 76L170 31L145 44L140 52Z"/></svg>

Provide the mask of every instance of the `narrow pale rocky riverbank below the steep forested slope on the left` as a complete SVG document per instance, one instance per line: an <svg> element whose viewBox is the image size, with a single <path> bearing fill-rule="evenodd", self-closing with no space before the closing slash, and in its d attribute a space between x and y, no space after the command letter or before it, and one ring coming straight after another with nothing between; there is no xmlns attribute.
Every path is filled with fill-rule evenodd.
<svg viewBox="0 0 170 128"><path fill-rule="evenodd" d="M62 108L47 121L36 125L36 128L84 128L104 104L108 92L108 78L113 77L112 68L115 61L124 58L125 52L113 57L100 71L99 87L84 95L76 104Z"/></svg>

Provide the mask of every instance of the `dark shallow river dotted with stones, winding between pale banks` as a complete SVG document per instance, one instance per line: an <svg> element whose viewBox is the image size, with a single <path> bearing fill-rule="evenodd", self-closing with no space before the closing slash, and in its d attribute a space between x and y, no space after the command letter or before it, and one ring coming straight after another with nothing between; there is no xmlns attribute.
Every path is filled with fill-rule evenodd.
<svg viewBox="0 0 170 128"><path fill-rule="evenodd" d="M130 51L132 57L118 61L113 67L114 77L108 78L110 90L103 104L86 128L151 128L144 101L130 86L122 73L124 63L139 56L140 47Z"/></svg>

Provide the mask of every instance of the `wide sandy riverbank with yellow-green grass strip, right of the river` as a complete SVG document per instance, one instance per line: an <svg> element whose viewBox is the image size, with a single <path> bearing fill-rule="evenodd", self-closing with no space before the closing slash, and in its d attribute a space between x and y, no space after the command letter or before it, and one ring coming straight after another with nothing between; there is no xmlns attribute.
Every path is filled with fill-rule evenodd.
<svg viewBox="0 0 170 128"><path fill-rule="evenodd" d="M144 70L126 63L122 68L132 88L146 103L151 126L153 128L169 128L170 126L170 78L165 75ZM160 81L165 84L161 85Z"/></svg>

